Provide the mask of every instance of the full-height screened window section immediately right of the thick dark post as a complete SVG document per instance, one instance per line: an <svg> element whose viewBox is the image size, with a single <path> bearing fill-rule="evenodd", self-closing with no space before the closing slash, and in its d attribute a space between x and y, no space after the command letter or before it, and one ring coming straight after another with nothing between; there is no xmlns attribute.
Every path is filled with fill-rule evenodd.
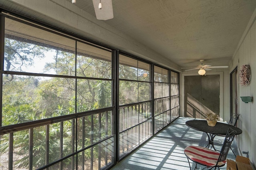
<svg viewBox="0 0 256 170"><path fill-rule="evenodd" d="M152 102L148 63L119 55L119 157L152 136Z"/></svg>

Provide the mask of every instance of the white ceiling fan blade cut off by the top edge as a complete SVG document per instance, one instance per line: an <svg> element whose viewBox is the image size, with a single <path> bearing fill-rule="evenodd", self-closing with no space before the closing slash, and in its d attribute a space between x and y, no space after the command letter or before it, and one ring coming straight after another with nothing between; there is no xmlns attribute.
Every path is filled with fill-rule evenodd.
<svg viewBox="0 0 256 170"><path fill-rule="evenodd" d="M92 0L96 18L98 20L109 20L114 18L112 0ZM99 9L99 3L102 4L102 9Z"/></svg>

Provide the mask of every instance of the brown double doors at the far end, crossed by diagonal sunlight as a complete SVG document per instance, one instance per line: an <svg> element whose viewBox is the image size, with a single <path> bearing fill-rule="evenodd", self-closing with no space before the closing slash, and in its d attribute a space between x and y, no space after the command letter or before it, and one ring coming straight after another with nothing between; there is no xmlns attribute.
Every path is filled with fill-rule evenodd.
<svg viewBox="0 0 256 170"><path fill-rule="evenodd" d="M184 116L220 115L220 75L184 77Z"/></svg>

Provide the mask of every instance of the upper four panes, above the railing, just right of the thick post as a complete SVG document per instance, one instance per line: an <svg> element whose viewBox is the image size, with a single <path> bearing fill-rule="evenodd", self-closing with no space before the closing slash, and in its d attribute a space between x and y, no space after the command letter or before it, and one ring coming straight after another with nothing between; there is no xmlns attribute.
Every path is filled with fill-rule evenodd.
<svg viewBox="0 0 256 170"><path fill-rule="evenodd" d="M150 64L119 55L119 105L151 99Z"/></svg>

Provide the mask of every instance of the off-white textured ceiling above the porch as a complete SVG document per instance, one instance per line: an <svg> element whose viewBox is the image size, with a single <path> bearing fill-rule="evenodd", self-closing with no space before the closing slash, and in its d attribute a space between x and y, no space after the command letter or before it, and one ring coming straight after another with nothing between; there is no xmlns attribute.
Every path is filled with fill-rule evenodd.
<svg viewBox="0 0 256 170"><path fill-rule="evenodd" d="M256 0L112 0L112 4L114 18L105 23L181 67L193 67L200 59L214 66L230 63ZM76 0L75 5L95 16L92 0Z"/></svg>

